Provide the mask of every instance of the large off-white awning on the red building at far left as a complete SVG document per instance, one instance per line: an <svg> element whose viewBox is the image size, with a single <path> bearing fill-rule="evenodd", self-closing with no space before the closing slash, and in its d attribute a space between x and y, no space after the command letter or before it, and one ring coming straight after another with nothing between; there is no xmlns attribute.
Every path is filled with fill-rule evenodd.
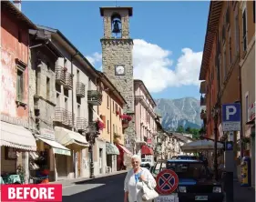
<svg viewBox="0 0 256 202"><path fill-rule="evenodd" d="M29 130L4 121L1 121L0 145L36 151L36 139Z"/></svg>

